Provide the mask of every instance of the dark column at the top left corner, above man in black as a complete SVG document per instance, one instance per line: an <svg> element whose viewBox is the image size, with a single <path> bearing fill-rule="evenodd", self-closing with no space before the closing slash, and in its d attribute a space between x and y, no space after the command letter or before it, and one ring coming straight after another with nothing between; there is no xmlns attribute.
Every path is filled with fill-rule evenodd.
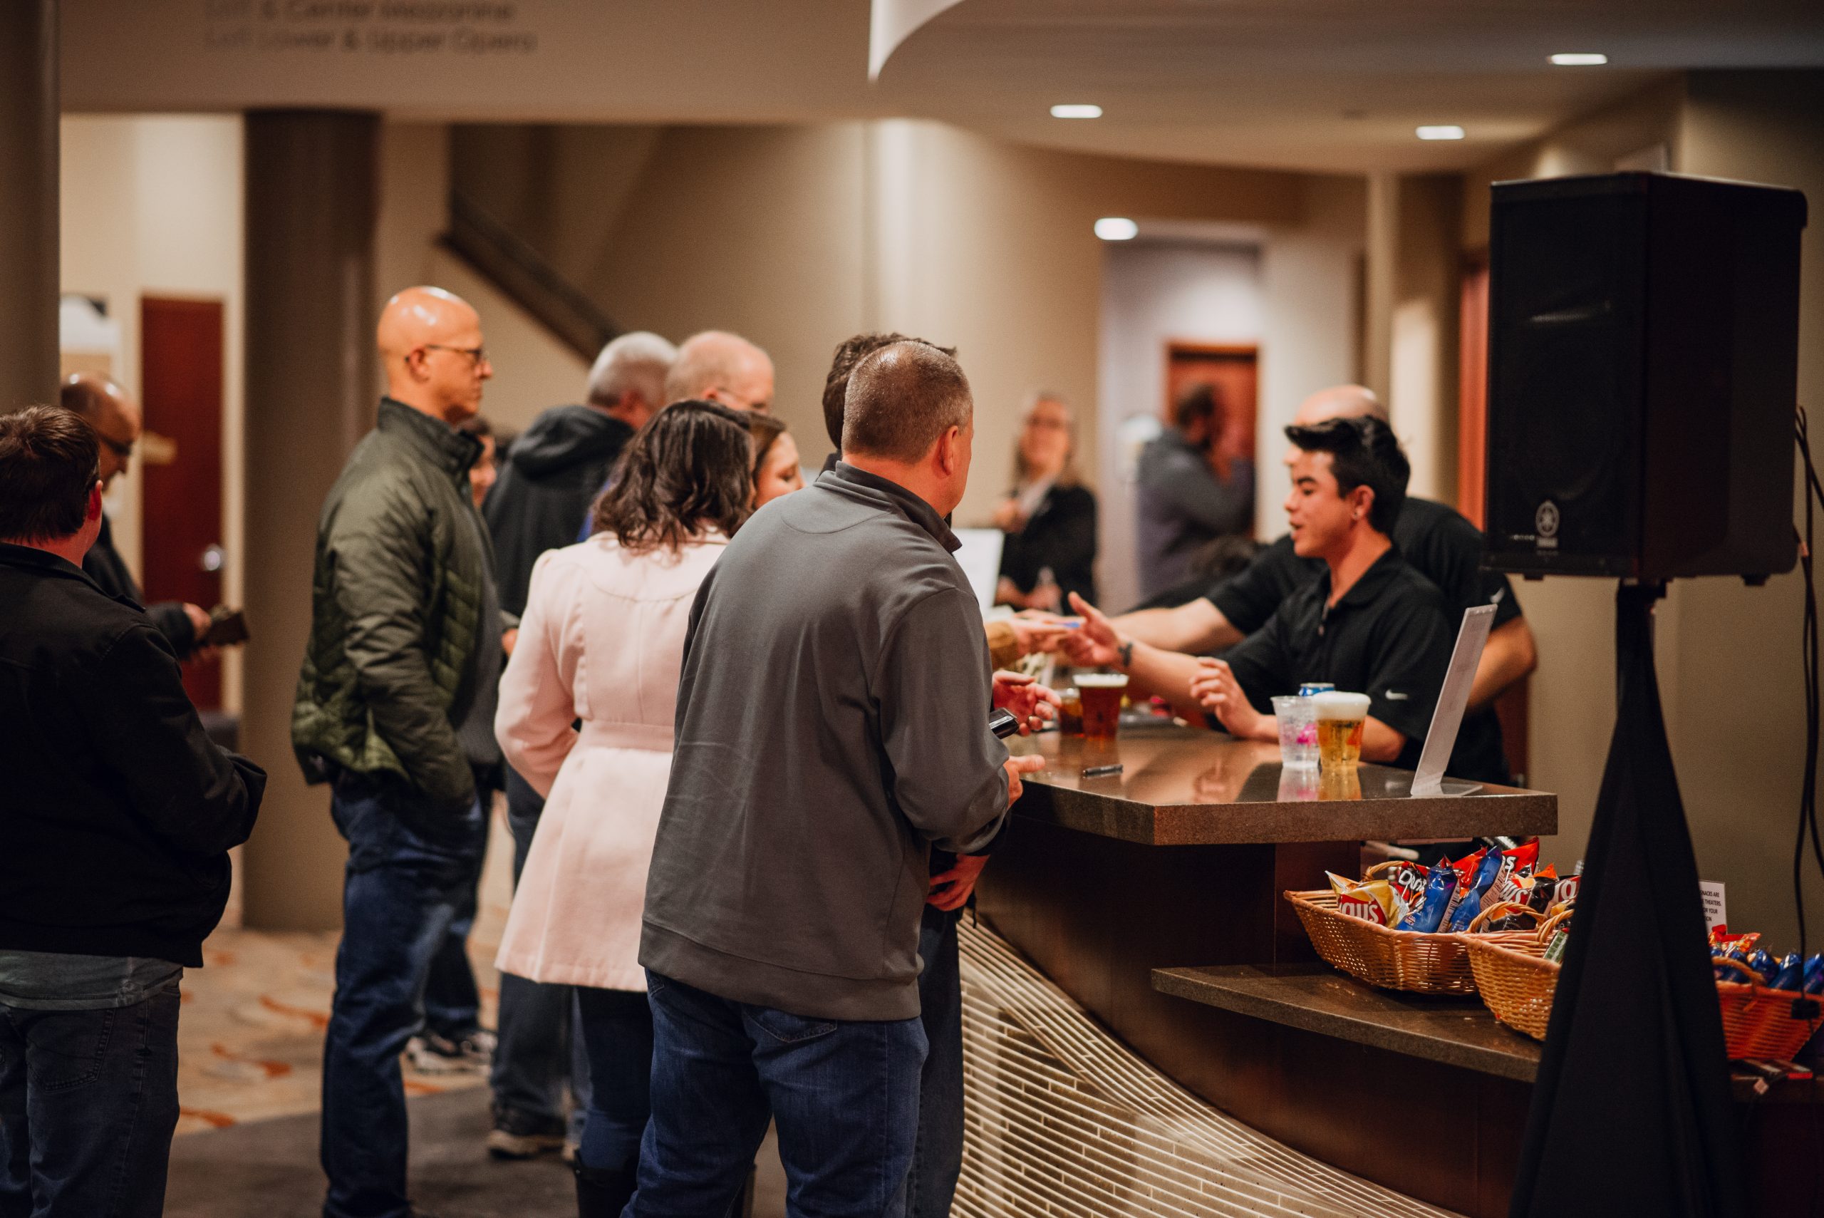
<svg viewBox="0 0 1824 1218"><path fill-rule="evenodd" d="M0 410L57 399L57 0L0 4Z"/></svg>

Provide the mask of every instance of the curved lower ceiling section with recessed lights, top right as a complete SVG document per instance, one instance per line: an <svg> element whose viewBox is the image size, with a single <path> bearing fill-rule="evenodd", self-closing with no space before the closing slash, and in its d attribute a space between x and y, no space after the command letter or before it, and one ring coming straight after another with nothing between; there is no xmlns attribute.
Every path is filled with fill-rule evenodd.
<svg viewBox="0 0 1824 1218"><path fill-rule="evenodd" d="M905 38L877 89L1054 148L1456 170L1671 71L1813 66L1824 0L963 0ZM1052 102L1104 117L1051 119ZM1468 137L1421 142L1419 124Z"/></svg>

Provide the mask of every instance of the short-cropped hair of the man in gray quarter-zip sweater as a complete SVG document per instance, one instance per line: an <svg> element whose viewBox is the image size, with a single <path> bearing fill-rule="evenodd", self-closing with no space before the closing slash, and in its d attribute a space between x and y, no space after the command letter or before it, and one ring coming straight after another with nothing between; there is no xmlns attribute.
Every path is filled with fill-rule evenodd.
<svg viewBox="0 0 1824 1218"><path fill-rule="evenodd" d="M919 461L952 427L969 427L976 401L963 365L919 341L874 352L848 377L843 450Z"/></svg>

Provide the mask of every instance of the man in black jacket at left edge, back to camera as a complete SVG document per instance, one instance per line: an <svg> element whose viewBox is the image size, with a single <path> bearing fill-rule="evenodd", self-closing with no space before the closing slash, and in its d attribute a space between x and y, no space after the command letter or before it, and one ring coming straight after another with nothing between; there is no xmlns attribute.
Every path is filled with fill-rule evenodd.
<svg viewBox="0 0 1824 1218"><path fill-rule="evenodd" d="M97 452L69 410L0 416L0 1213L153 1218L179 981L266 775L210 742L140 607L82 573Z"/></svg>

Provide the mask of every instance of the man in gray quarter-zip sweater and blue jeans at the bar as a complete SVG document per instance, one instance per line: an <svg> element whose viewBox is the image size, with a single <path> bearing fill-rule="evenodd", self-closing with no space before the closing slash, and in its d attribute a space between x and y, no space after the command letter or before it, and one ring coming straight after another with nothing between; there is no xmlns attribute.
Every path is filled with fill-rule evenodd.
<svg viewBox="0 0 1824 1218"><path fill-rule="evenodd" d="M901 1205L930 848L987 846L1040 764L989 731L981 613L943 523L972 438L954 359L876 352L843 461L755 512L697 594L640 941L637 1218L722 1213L770 1118L804 1213Z"/></svg>

